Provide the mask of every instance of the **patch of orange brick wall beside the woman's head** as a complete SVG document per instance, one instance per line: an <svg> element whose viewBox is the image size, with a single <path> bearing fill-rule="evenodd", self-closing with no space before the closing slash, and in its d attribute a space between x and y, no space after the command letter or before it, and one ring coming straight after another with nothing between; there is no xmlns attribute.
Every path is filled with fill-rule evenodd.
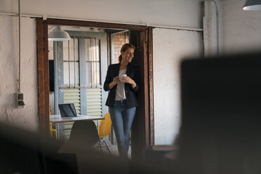
<svg viewBox="0 0 261 174"><path fill-rule="evenodd" d="M119 55L121 55L121 46L129 42L128 32L122 32L119 34L114 34L114 58L112 58L112 63L118 63Z"/></svg>

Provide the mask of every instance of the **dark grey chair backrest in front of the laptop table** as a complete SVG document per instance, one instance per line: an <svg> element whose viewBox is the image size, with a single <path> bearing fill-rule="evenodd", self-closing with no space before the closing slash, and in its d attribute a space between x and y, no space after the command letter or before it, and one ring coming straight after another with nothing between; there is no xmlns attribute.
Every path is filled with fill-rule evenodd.
<svg viewBox="0 0 261 174"><path fill-rule="evenodd" d="M96 125L93 121L79 120L72 125L69 142L79 143L86 147L92 147L99 141L99 135Z"/></svg>

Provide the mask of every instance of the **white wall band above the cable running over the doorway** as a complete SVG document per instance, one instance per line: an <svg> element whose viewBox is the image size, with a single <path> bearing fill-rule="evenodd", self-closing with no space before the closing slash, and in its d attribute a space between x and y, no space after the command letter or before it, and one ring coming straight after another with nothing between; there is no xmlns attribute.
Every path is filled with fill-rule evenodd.
<svg viewBox="0 0 261 174"><path fill-rule="evenodd" d="M21 0L21 13L60 18L202 28L201 0ZM18 13L18 0L0 12ZM68 13L69 12L69 13Z"/></svg>

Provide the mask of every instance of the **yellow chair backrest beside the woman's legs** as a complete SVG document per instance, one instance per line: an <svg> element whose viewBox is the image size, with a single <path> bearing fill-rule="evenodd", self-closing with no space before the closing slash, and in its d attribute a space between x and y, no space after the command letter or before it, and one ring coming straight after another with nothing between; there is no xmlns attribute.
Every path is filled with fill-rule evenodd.
<svg viewBox="0 0 261 174"><path fill-rule="evenodd" d="M105 114L105 119L100 121L100 126L99 126L99 137L100 138L105 138L107 135L109 135L111 129L112 129L112 120L111 116L109 113Z"/></svg>

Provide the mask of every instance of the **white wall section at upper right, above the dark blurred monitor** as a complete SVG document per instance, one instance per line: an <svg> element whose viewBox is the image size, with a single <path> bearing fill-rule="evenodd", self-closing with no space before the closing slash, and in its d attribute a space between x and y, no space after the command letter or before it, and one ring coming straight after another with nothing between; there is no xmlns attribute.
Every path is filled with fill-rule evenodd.
<svg viewBox="0 0 261 174"><path fill-rule="evenodd" d="M261 11L243 11L245 0L223 0L223 49L225 53L261 48Z"/></svg>

